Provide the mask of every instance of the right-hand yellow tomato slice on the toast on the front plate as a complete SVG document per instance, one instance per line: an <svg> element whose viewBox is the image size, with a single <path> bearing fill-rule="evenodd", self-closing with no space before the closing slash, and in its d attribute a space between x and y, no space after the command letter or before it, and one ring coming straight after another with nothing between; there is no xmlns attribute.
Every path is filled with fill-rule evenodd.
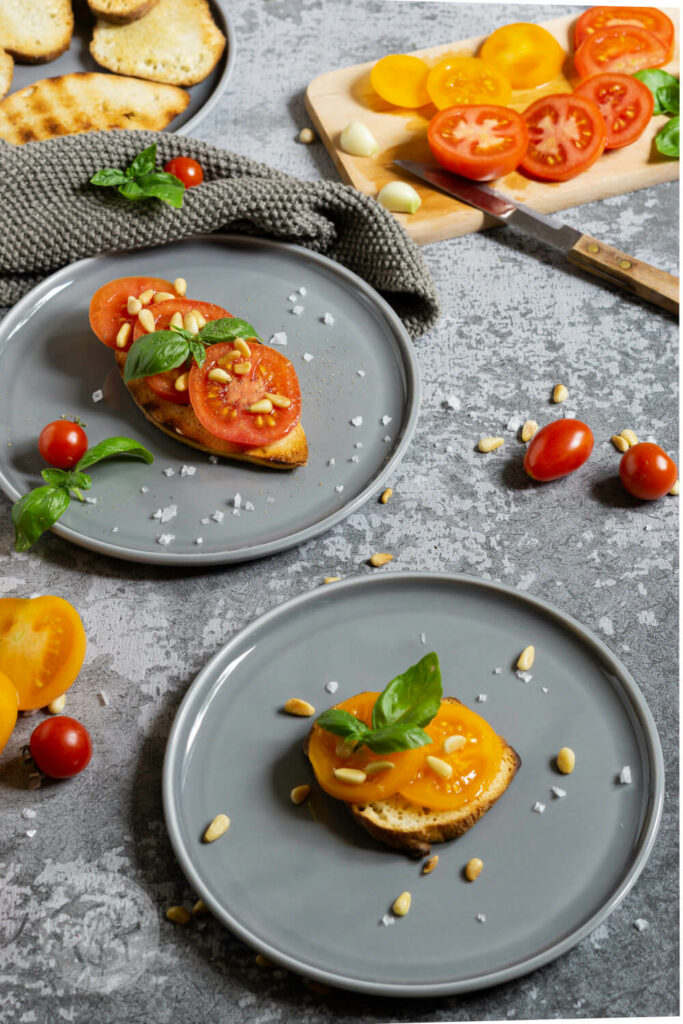
<svg viewBox="0 0 683 1024"><path fill-rule="evenodd" d="M472 803L484 793L501 770L503 740L480 715L464 705L443 700L438 714L425 727L432 737L428 746L418 751L422 763L410 782L399 790L411 804L434 811L453 811ZM443 741L449 736L463 736L460 750L446 754ZM453 769L450 778L437 775L427 763L429 756L439 758Z"/></svg>

